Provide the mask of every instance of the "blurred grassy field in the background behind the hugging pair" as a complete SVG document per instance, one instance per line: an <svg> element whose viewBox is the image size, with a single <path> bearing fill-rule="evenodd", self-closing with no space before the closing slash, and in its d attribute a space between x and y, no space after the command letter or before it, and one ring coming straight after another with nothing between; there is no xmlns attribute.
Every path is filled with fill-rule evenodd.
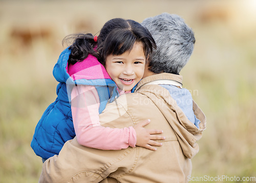
<svg viewBox="0 0 256 183"><path fill-rule="evenodd" d="M162 12L182 16L196 36L181 72L207 117L192 176L256 177L255 10L253 0L0 1L0 182L38 181L42 163L30 142L56 97L62 39L97 34L111 18Z"/></svg>

